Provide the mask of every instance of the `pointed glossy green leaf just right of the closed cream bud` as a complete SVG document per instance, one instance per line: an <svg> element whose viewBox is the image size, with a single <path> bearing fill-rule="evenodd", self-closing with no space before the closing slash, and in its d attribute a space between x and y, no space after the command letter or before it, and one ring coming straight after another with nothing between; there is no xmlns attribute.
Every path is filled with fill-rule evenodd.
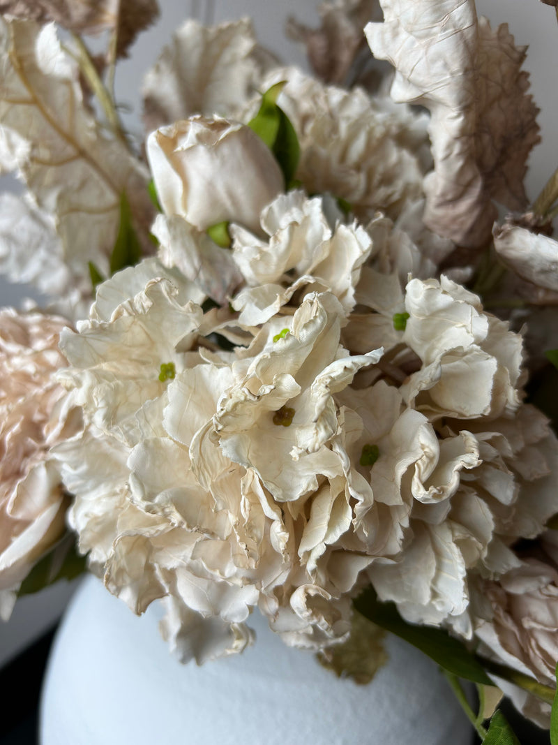
<svg viewBox="0 0 558 745"><path fill-rule="evenodd" d="M275 86L263 93L260 110L248 121L248 127L263 139L275 155L283 171L286 186L290 187L301 156L301 147L298 144L295 127L283 109L277 105L278 96L284 86L284 81L275 83Z"/></svg>

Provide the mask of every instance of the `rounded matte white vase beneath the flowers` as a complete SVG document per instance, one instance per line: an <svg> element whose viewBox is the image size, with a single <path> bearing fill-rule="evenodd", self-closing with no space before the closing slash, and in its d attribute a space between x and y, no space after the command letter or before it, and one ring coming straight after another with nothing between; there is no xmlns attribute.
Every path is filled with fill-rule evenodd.
<svg viewBox="0 0 558 745"><path fill-rule="evenodd" d="M42 745L469 745L443 675L389 636L369 685L286 647L257 613L242 655L181 665L142 618L88 577L62 621L42 694Z"/></svg>

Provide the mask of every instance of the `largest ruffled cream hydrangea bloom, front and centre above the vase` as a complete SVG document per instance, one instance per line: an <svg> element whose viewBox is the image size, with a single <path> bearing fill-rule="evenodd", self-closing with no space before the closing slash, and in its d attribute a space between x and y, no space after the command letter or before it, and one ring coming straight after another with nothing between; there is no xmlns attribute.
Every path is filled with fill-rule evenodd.
<svg viewBox="0 0 558 745"><path fill-rule="evenodd" d="M521 403L518 335L454 282L414 279L394 315L381 294L363 313L383 354L350 355L352 303L330 284L304 279L295 305L243 326L149 260L63 335L87 424L57 448L80 549L135 612L164 597L182 659L241 650L255 606L289 644L339 641L370 580L408 620L472 638L470 583L510 571L510 545L557 510L558 446Z"/></svg>

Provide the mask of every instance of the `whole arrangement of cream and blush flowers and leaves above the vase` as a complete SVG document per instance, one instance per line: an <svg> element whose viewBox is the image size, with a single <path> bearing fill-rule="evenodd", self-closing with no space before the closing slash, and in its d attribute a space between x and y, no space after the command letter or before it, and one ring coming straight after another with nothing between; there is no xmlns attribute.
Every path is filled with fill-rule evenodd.
<svg viewBox="0 0 558 745"><path fill-rule="evenodd" d="M371 622L483 741L517 742L501 691L558 743L558 177L529 205L525 49L473 0L334 0L289 23L311 76L190 20L138 144L115 68L157 7L114 6L1 4L27 190L0 269L52 298L0 311L1 615L86 563L164 603L182 662L241 652L257 608L351 674Z"/></svg>

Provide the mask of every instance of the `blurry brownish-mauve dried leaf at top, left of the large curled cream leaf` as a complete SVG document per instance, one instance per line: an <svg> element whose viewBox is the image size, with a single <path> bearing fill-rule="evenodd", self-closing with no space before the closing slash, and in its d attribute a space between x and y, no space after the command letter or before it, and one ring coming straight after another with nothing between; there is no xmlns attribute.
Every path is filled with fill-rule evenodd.
<svg viewBox="0 0 558 745"><path fill-rule="evenodd" d="M321 26L310 28L289 18L286 33L307 47L308 60L317 77L341 85L359 51L366 45L362 29L379 15L378 0L334 0L321 4Z"/></svg>

